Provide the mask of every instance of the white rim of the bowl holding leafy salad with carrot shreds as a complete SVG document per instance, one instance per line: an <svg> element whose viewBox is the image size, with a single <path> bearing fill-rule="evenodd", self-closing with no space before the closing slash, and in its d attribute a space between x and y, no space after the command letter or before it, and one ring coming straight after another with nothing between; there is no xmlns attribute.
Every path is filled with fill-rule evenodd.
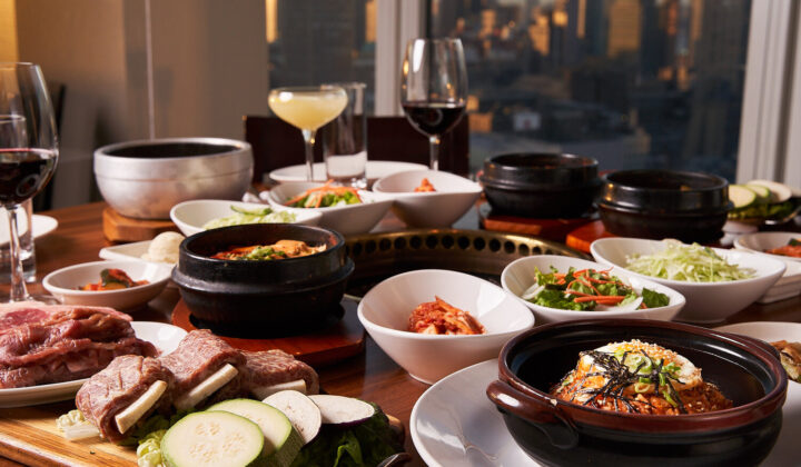
<svg viewBox="0 0 801 467"><path fill-rule="evenodd" d="M505 285L505 284L506 284L505 278L506 278L507 271L510 270L510 268L511 268L514 264L516 264L516 262L520 262L520 264L523 264L523 262L532 262L533 260L542 259L542 258L561 258L561 259L565 259L565 260L568 260L568 261L584 261L584 262L590 262L590 264L593 264L593 265L595 265L595 266L597 266L597 267L600 267L600 268L604 268L604 267L605 267L605 265L602 265L602 264L596 262L596 261L591 261L591 260L589 260L589 259L583 259L583 258L573 258L573 257L570 257L570 256L560 256L560 255L536 255L536 256L527 256L527 257L524 257L524 258L517 258L517 259L515 259L514 261L512 261L512 262L510 262L508 265L506 265L506 267L504 268L503 272L501 274L501 284L502 284L502 285ZM610 268L607 268L607 269L610 269ZM611 269L620 270L620 269L622 269L622 268L619 267L619 266L612 266ZM631 274L631 272L629 272L629 271L623 271L622 274L619 272L619 271L614 271L614 274L615 274L615 276L621 277L621 278L625 278L625 279L631 279L632 277L634 277L633 274ZM655 282L655 281L653 281L653 280L649 280L649 279L646 279L645 277L635 277L635 279L641 280L641 281L643 282L643 286L647 285L649 288L653 288L653 289L655 289L655 291L659 291L660 294L664 294L664 292L660 291L660 289L662 289L662 290L668 289L671 294L664 294L664 295L666 295L668 298L671 299L671 301L668 302L668 305L662 306L662 307L646 308L646 309L636 309L636 310L624 310L624 311L621 311L621 310L605 310L605 311L603 311L603 310L602 310L602 311L594 311L594 310L566 310L566 309L562 309L562 308L553 308L553 307L546 307L546 306L544 306L544 305L537 305L537 304L531 302L531 301L524 299L523 297L521 297L521 296L512 292L512 290L508 290L508 289L506 289L505 287L504 287L504 290L506 290L510 295L512 295L513 297L515 297L515 298L517 298L518 300L521 300L523 304L525 304L525 305L528 306L530 308L537 308L537 309L538 309L538 308L542 308L543 310L546 310L546 311L548 311L548 312L550 312L550 311L568 312L571 316L576 316L576 317L581 317L581 318L584 318L584 317L585 317L585 318L592 318L592 317L604 318L604 317L609 317L609 316L614 316L615 318L621 318L621 319L623 319L623 317L620 316L620 315L637 314L637 312L641 312L641 314L642 314L642 312L652 312L652 311L655 312L656 310L663 310L663 309L665 309L665 308L672 308L672 307L684 307L684 305L686 305L686 297L684 297L684 295L682 295L680 291L674 290L674 289L672 289L672 288L670 288L670 287L668 287L668 286L665 286L665 285ZM678 300L675 304L672 302L672 301L673 301L673 298L676 298L676 300Z"/></svg>

